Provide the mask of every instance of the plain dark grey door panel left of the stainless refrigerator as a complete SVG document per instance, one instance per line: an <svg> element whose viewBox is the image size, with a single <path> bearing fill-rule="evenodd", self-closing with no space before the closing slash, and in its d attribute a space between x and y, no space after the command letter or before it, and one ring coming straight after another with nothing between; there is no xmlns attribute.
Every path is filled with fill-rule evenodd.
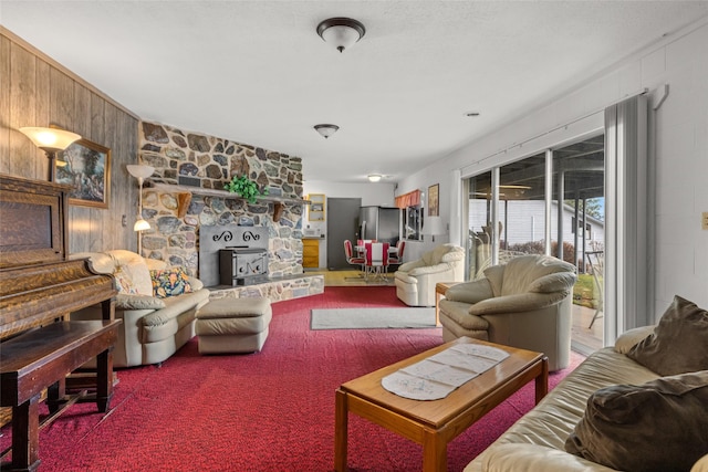
<svg viewBox="0 0 708 472"><path fill-rule="evenodd" d="M327 269L348 270L344 255L344 240L356 243L361 198L327 198Z"/></svg>

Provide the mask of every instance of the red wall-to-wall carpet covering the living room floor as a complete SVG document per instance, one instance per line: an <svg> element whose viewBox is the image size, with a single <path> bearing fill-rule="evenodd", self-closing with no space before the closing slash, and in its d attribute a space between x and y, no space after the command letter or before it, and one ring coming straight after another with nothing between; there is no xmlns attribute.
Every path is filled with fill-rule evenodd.
<svg viewBox="0 0 708 472"><path fill-rule="evenodd" d="M72 407L40 434L41 471L330 471L334 390L441 343L440 329L310 331L313 307L404 306L395 289L327 287L273 304L261 353L200 356L192 339L162 368L118 371L113 410ZM573 366L582 360L573 355ZM551 375L551 387L566 371ZM465 465L533 406L528 385L448 447ZM2 429L7 447L10 429ZM417 471L421 449L355 416L352 471Z"/></svg>

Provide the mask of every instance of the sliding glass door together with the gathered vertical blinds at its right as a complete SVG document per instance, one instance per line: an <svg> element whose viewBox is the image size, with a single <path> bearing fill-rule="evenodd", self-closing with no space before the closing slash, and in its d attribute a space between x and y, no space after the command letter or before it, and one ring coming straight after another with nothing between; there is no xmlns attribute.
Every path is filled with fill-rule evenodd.
<svg viewBox="0 0 708 472"><path fill-rule="evenodd" d="M604 129L589 129L582 139L544 154L480 168L462 185L467 277L528 253L574 264L573 346L579 350L594 350L653 323L648 116L645 95L623 99L605 108Z"/></svg>

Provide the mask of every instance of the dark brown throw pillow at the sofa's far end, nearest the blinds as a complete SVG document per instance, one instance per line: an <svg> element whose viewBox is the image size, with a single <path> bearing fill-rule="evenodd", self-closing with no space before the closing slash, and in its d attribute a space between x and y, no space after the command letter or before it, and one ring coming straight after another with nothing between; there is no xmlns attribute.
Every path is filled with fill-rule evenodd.
<svg viewBox="0 0 708 472"><path fill-rule="evenodd" d="M680 296L627 357L662 376L708 369L708 312Z"/></svg>

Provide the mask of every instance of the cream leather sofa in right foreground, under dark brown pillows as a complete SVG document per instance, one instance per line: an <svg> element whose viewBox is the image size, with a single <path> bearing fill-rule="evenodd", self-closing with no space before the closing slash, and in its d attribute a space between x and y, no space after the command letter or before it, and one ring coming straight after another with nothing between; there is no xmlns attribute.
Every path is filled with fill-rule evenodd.
<svg viewBox="0 0 708 472"><path fill-rule="evenodd" d="M617 339L614 347L589 356L538 406L475 458L465 472L614 471L565 452L565 442L583 418L587 399L597 389L620 384L642 385L659 378L658 374L625 355L632 346L652 334L653 328L631 329ZM647 436L647 431L638 432ZM627 434L632 434L632 430ZM662 444L649 447L662 448ZM641 452L633 450L627 453ZM691 472L708 472L708 455L696 462Z"/></svg>

